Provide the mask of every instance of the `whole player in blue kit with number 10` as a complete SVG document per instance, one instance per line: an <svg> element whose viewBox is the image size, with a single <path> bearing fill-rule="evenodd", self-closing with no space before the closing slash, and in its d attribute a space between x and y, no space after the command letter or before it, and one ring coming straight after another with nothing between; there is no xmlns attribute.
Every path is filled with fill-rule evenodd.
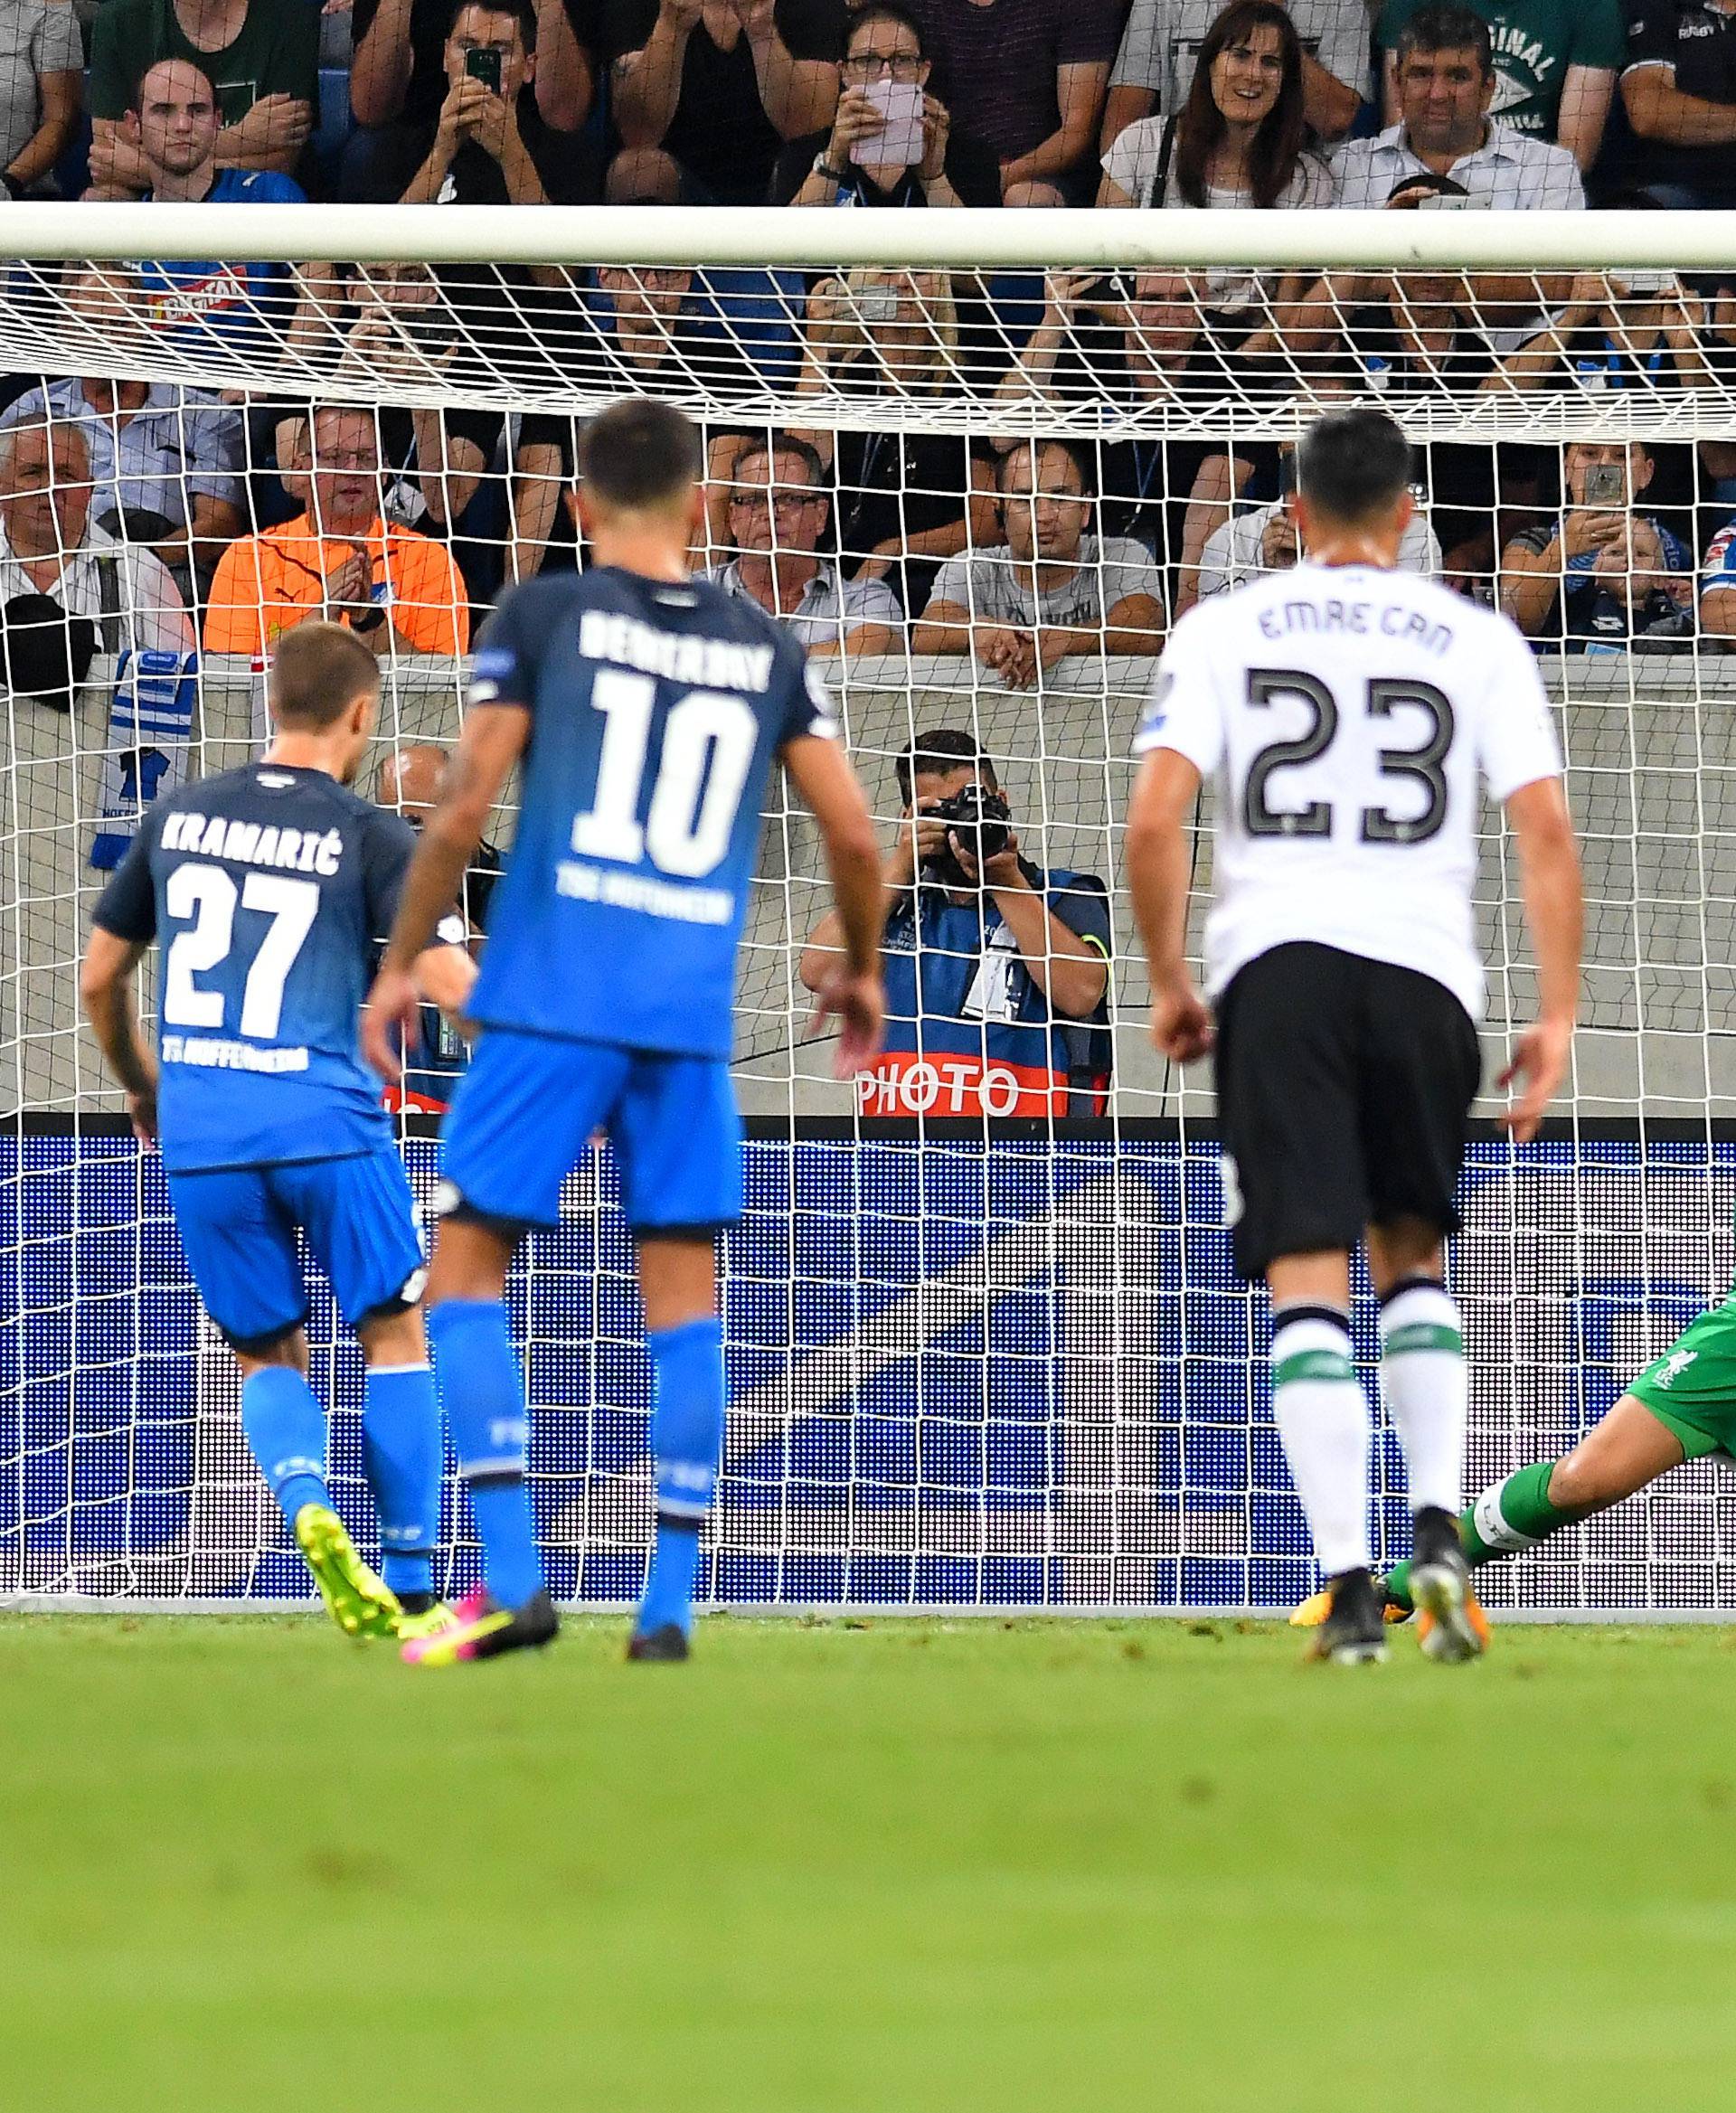
<svg viewBox="0 0 1736 2113"><path fill-rule="evenodd" d="M663 404L617 404L579 448L593 564L507 596L484 632L441 805L403 885L365 1021L397 1071L414 1035L412 964L522 761L517 839L494 887L482 1025L446 1122L429 1340L484 1585L441 1638L454 1665L547 1644L555 1610L524 1490L524 1382L507 1268L602 1124L638 1240L655 1376L657 1547L627 1654L684 1659L699 1528L724 1426L716 1232L741 1213L741 1124L729 1080L735 953L760 809L784 763L813 809L841 906L838 1073L881 1033L881 860L868 803L798 644L756 604L688 577L703 507L699 435Z"/></svg>

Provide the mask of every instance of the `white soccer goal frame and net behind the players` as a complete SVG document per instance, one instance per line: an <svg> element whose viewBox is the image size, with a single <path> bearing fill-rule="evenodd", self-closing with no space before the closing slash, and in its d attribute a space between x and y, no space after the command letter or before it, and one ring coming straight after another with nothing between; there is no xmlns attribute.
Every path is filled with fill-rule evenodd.
<svg viewBox="0 0 1736 2113"><path fill-rule="evenodd" d="M0 528L19 454L6 433L82 420L80 446L95 450L89 507L120 494L103 547L127 554L95 568L120 581L125 606L93 615L82 682L59 706L0 689L0 1600L222 1606L302 1593L245 1460L228 1359L186 1280L161 1173L125 1135L76 1021L76 959L101 885L95 839L129 826L116 786L135 814L146 752L199 775L258 740L251 655L234 649L237 630L213 628L224 573L196 547L194 456L220 442L234 450L205 482L237 494L239 541L262 492L323 503L308 499L327 467L313 412L365 406L382 503L401 503L403 522L454 551L458 583L441 615L463 642L515 566L572 562L553 503L570 450L555 429L570 433L634 387L640 370L610 330L640 294L631 313L648 317L657 355L644 387L701 418L712 448L716 505L699 556L767 562L731 513L733 494L754 499L754 480L777 522L769 558L790 556L775 492L800 482L811 456L830 537L815 545L815 577L836 568L841 606L855 606L845 581L887 590L860 596L870 649L849 649L855 619L813 619L887 839L912 737L967 735L993 759L1033 866L1102 883L1111 955L1064 1111L1052 1099L1003 1120L988 1086L955 1105L955 1044L940 1037L929 1054L921 1023L895 1088L857 1103L830 1080L830 1050L805 1037L800 955L824 887L811 830L777 794L743 961L737 1082L752 1137L748 1217L727 1255L733 1409L707 1538L714 1597L1271 1612L1307 1589L1271 1428L1265 1321L1227 1261L1210 1092L1202 1076L1170 1073L1145 1037L1121 820L1128 737L1164 623L1181 598L1288 562L1282 454L1333 404L1383 401L1419 444L1430 564L1485 598L1512 592L1529 564L1556 609L1540 649L1586 839L1586 1016L1548 1137L1523 1152L1480 1137L1472 1156L1453 1268L1474 1483L1563 1452L1723 1295L1736 1264L1725 642L1736 571L1719 585L1721 520L1736 516L1736 355L1725 359L1719 338L1728 323L1736 344L1736 235L1725 216L19 201L0 241L11 260L0 370L49 391L40 410L30 393L15 410L0 404ZM224 313L232 323L239 311L241 328L222 323L215 300L135 304L165 258L220 260L211 273L232 273ZM251 273L275 264L287 273ZM669 294L672 273L686 292ZM600 294L600 275L619 292ZM1660 294L1658 279L1675 292ZM414 311L393 306L405 281ZM1413 344L1428 336L1415 289L1440 281L1457 317L1451 359ZM171 279L171 292L186 285ZM1436 321L1440 306L1430 304ZM1392 323L1369 351L1377 311ZM1599 330L1611 340L1603 368L1575 366L1575 332ZM1641 342L1647 332L1656 344ZM1402 387L1394 347L1419 361ZM167 420L184 450L171 473L161 450L154 459L165 505L127 501L144 471L129 484L120 414L89 397L87 385L120 380L152 385L141 416ZM76 401L51 393L70 382L84 391ZM1045 452L1062 440L1071 469ZM384 459L389 444L401 459ZM294 446L304 448L294 461L275 452ZM528 469L539 446L541 467ZM1565 486L1575 448L1580 482ZM1584 484L1586 450L1618 456L1605 465L1626 480L1616 499ZM65 484L57 461L51 478ZM942 461L959 465L952 488L912 467ZM1018 623L978 604L990 592L978 575L1001 562L1009 513L1024 505L1035 520L1045 465L1060 503L1090 526L1054 564L1067 575L1054 611L1067 613L1043 604L1031 663L1014 666L986 657L986 632ZM465 505L448 520L441 505L458 492ZM1628 522L1607 636L1578 634L1565 615L1590 566L1567 551L1563 524L1597 507ZM165 513L171 530L182 524L180 543L139 526ZM898 549L862 526L887 520L900 524ZM163 562L146 564L133 543ZM74 551L63 556L72 564ZM184 691L167 676L150 695L125 680L116 691L112 649L169 636L163 611L146 611L158 575L177 581L175 640L199 638L196 670ZM940 592L948 581L969 583L955 587L969 621L950 632L925 623L936 600L955 606ZM1725 592L1732 611L1717 600ZM1115 621L1117 606L1147 602L1155 617ZM1067 642L1052 659L1045 623ZM382 655L370 790L386 752L444 746L456 731L465 655L424 651L412 634L395 621ZM1117 649L1130 638L1138 651ZM509 841L511 816L498 835ZM1202 833L1202 898L1206 843ZM1478 915L1493 1052L1529 1002L1516 881L1493 818ZM995 1018L1016 972L1001 959L971 1018ZM405 1152L427 1196L433 1126L412 1120ZM570 1185L560 1236L530 1242L515 1293L539 1523L560 1591L598 1602L638 1589L650 1528L648 1378L627 1274L612 1171L598 1156ZM323 1293L313 1333L317 1382L338 1403L338 1490L363 1504L357 1369ZM1360 1357L1371 1342L1360 1308ZM1404 1504L1390 1439L1377 1450L1375 1521L1377 1545L1396 1549ZM463 1583L467 1519L448 1526ZM1700 1462L1508 1566L1489 1597L1542 1614L1717 1614L1734 1593L1736 1513L1721 1471Z"/></svg>

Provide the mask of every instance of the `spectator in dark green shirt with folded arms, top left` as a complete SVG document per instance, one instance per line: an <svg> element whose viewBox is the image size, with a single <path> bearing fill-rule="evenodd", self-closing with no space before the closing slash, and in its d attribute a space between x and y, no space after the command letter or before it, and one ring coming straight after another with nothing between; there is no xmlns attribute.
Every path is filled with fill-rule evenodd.
<svg viewBox="0 0 1736 2113"><path fill-rule="evenodd" d="M319 8L283 0L103 0L91 32L91 194L137 197L150 171L120 120L163 59L215 87L218 167L294 175L313 133Z"/></svg>

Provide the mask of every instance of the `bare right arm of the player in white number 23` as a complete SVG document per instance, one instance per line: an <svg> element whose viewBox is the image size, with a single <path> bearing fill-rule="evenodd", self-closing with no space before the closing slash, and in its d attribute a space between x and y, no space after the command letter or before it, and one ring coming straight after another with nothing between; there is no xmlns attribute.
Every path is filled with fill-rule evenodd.
<svg viewBox="0 0 1736 2113"><path fill-rule="evenodd" d="M1525 925L1537 957L1537 1018L1514 1042L1512 1063L1499 1080L1502 1086L1518 1084L1518 1099L1502 1122L1523 1145L1537 1135L1544 1109L1567 1076L1586 904L1580 845L1561 780L1540 778L1521 786L1508 797L1506 811L1518 847Z"/></svg>

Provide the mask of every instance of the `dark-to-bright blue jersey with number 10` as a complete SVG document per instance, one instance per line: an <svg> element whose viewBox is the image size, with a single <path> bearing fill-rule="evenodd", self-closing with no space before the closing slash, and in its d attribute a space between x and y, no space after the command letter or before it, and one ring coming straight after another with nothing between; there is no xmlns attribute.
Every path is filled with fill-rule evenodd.
<svg viewBox="0 0 1736 2113"><path fill-rule="evenodd" d="M471 704L528 710L530 746L467 1010L729 1056L767 780L786 742L836 733L803 649L705 581L598 566L507 596Z"/></svg>

